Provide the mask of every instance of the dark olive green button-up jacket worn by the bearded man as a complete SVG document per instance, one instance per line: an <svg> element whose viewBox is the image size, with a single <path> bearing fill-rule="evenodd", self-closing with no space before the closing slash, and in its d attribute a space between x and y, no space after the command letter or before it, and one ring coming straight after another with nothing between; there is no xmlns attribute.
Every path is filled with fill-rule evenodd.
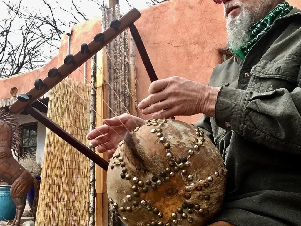
<svg viewBox="0 0 301 226"><path fill-rule="evenodd" d="M235 225L301 225L301 11L278 18L245 60L217 65L216 117L196 126L228 169L222 212ZM297 205L297 206L296 206Z"/></svg>

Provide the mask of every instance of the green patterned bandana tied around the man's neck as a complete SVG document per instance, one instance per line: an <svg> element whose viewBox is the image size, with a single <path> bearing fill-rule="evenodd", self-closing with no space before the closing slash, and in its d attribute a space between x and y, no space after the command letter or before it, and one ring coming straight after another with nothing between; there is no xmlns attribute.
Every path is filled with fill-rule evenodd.
<svg viewBox="0 0 301 226"><path fill-rule="evenodd" d="M232 51L244 60L247 53L250 51L256 41L274 25L274 21L279 17L285 16L292 8L293 7L287 2L282 2L277 5L268 15L250 28L250 41L244 46L240 47L240 49Z"/></svg>

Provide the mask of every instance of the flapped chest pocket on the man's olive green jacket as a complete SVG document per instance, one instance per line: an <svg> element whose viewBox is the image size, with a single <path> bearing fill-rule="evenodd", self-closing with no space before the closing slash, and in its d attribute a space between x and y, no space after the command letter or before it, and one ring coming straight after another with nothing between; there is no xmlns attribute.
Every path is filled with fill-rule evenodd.
<svg viewBox="0 0 301 226"><path fill-rule="evenodd" d="M301 58L298 56L287 56L278 61L262 60L251 70L252 80L248 90L264 93L284 88L292 92L298 85L300 64Z"/></svg>

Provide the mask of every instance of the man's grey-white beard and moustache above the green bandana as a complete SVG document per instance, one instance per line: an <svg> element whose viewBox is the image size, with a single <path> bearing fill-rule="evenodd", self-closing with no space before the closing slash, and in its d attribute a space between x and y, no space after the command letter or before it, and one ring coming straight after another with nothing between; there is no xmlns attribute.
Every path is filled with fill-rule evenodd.
<svg viewBox="0 0 301 226"><path fill-rule="evenodd" d="M265 16L269 9L272 9L274 2L270 0L259 1L256 5L247 5L242 2L228 2L224 6L224 13L227 8L239 6L241 13L236 16L226 17L226 31L228 34L228 48L239 49L250 39L250 27Z"/></svg>

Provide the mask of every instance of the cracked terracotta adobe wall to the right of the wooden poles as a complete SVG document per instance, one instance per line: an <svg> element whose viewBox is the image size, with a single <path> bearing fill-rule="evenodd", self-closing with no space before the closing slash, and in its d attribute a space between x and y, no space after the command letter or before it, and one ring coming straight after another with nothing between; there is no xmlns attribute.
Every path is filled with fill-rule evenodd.
<svg viewBox="0 0 301 226"><path fill-rule="evenodd" d="M288 2L301 9L300 0ZM223 4L216 5L213 0L171 0L144 9L141 14L135 24L158 78L182 76L208 84L213 68L221 63L219 49L226 45ZM148 96L151 82L138 51L136 67L141 86L137 83L139 102ZM139 111L138 115L141 116ZM193 123L200 116L176 119Z"/></svg>

